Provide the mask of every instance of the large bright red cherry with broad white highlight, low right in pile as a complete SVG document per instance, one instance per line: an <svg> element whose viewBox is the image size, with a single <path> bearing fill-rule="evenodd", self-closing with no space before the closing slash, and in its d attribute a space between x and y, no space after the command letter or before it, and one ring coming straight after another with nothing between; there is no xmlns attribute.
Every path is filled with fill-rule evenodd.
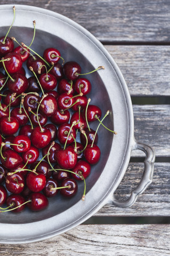
<svg viewBox="0 0 170 256"><path fill-rule="evenodd" d="M77 163L78 155L71 146L56 151L57 163L66 170L73 169Z"/></svg>

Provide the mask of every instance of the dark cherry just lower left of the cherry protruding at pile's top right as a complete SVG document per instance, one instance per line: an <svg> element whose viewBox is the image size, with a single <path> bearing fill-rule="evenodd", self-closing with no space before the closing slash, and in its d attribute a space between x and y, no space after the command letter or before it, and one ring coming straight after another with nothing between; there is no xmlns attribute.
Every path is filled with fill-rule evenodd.
<svg viewBox="0 0 170 256"><path fill-rule="evenodd" d="M27 60L28 70L30 69L30 67L32 67L33 71L36 73L36 75L39 75L38 70L40 68L41 68L41 73L45 73L46 70L43 65L45 65L45 62L41 58L39 58L37 55L33 55L33 57L30 56Z"/></svg>

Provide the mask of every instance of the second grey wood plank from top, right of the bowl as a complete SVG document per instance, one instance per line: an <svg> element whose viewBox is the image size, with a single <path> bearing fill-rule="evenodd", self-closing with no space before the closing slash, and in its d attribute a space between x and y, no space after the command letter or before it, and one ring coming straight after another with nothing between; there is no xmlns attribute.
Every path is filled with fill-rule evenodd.
<svg viewBox="0 0 170 256"><path fill-rule="evenodd" d="M131 96L170 95L170 46L105 45Z"/></svg>

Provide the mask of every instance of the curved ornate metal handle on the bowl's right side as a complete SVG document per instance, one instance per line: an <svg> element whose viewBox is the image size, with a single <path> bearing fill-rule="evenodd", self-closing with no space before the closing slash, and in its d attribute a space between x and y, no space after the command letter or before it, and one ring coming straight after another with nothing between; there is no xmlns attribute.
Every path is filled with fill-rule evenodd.
<svg viewBox="0 0 170 256"><path fill-rule="evenodd" d="M155 162L155 152L154 149L151 147L143 144L143 143L138 143L135 142L134 147L132 150L142 150L146 154L146 158L144 161L145 167L144 167L144 172L142 179L137 186L132 192L130 197L126 201L118 201L117 199L112 198L112 204L118 207L130 207L134 202L137 200L137 197L143 193L143 191L146 190L146 188L150 185L152 182L152 177L153 177L153 172L154 172L154 162Z"/></svg>

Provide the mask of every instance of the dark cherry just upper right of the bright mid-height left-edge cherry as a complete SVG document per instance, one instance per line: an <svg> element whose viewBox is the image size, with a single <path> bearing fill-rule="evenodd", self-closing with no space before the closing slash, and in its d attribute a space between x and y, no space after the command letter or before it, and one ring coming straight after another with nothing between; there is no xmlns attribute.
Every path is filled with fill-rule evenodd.
<svg viewBox="0 0 170 256"><path fill-rule="evenodd" d="M25 114L25 111L27 115ZM25 109L25 111L23 110L23 108L20 107L13 108L11 110L11 116L14 116L16 117L16 119L18 119L20 126L23 126L28 122L29 111L27 109Z"/></svg>

